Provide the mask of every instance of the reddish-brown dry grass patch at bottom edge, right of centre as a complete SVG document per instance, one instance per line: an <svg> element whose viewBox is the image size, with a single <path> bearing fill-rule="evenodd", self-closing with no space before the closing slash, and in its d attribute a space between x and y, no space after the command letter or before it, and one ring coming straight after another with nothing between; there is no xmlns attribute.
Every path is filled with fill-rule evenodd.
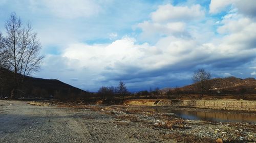
<svg viewBox="0 0 256 143"><path fill-rule="evenodd" d="M206 142L216 142L214 139L208 137L199 137L192 134L185 134L185 133L172 133L166 134L163 136L164 139L174 139L177 142L189 142L189 143L206 143Z"/></svg>

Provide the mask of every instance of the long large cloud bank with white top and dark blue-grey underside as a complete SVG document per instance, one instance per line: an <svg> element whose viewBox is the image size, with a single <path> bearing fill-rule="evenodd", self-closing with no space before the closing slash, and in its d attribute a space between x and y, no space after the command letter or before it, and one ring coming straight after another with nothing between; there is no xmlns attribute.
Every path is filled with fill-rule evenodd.
<svg viewBox="0 0 256 143"><path fill-rule="evenodd" d="M193 71L191 69L195 70L198 65L220 69L237 67L253 59L256 52L255 48L232 48L233 45L224 40L221 44L201 44L194 39L168 36L154 46L135 42L133 38L124 37L111 44L72 44L62 56L69 59L66 67L77 71L86 68L83 74L91 74L88 78L94 79L94 83L110 84L112 81L134 79L149 82L166 74ZM190 79L190 76L184 77Z"/></svg>

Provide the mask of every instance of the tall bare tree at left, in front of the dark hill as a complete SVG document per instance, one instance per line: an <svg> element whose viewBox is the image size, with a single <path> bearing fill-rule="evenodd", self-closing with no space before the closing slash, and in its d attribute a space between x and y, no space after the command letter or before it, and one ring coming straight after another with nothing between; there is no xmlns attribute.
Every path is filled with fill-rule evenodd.
<svg viewBox="0 0 256 143"><path fill-rule="evenodd" d="M40 55L41 45L33 32L30 23L23 25L20 18L13 13L5 24L7 64L14 72L12 98L16 98L17 88L24 81L24 77L39 69L44 56Z"/></svg>

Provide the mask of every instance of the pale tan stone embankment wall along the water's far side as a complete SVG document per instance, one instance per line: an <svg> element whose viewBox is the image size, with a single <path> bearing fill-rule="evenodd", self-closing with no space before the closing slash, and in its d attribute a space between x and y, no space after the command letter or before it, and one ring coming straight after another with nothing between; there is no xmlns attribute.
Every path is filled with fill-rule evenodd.
<svg viewBox="0 0 256 143"><path fill-rule="evenodd" d="M183 100L181 101L180 106L219 110L256 111L256 101L244 100Z"/></svg>

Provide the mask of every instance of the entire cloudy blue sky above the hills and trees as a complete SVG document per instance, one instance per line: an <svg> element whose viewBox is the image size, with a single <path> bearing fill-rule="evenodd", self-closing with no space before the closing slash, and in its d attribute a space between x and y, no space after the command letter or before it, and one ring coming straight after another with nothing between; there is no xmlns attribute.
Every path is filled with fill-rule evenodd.
<svg viewBox="0 0 256 143"><path fill-rule="evenodd" d="M0 31L15 12L45 55L32 76L96 92L181 87L197 69L256 77L255 0L0 0Z"/></svg>

